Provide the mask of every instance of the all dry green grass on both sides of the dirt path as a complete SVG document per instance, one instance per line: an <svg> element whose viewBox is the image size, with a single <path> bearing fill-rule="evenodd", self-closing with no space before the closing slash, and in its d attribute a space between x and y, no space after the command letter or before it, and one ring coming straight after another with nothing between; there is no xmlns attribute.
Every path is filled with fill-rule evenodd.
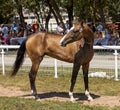
<svg viewBox="0 0 120 110"><path fill-rule="evenodd" d="M38 92L51 92L68 95L70 86L70 73L59 74L54 78L53 74L40 74L36 77L36 86ZM28 74L20 72L15 77L10 77L7 73L5 76L0 74L0 85L20 87L23 91L30 91ZM90 92L95 95L120 95L120 82L114 79L89 78ZM84 93L84 83L82 75L79 74L74 88L77 94ZM41 101L34 99L23 99L19 97L0 97L0 110L109 110L107 106L85 106L80 102L60 102L60 101ZM112 110L119 110L118 107Z"/></svg>

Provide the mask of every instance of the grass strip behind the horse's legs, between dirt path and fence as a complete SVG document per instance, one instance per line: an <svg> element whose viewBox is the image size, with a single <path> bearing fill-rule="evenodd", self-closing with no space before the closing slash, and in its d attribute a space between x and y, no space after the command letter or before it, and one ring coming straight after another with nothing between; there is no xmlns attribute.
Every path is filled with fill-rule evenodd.
<svg viewBox="0 0 120 110"><path fill-rule="evenodd" d="M70 74L60 74L58 78L54 78L53 74L39 74L36 77L36 86L38 91L46 92L67 92L70 86ZM15 77L10 77L9 74L0 75L0 85L17 86L24 91L29 91L28 74L18 74ZM120 83L114 79L106 78L89 78L89 88L93 93L101 95L120 95ZM74 92L84 93L84 82L82 75L78 75Z"/></svg>

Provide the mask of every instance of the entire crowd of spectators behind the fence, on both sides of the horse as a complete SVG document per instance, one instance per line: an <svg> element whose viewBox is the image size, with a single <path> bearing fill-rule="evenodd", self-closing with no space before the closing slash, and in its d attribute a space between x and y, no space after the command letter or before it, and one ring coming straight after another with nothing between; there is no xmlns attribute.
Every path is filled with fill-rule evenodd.
<svg viewBox="0 0 120 110"><path fill-rule="evenodd" d="M101 23L95 25L94 23L88 24L94 32L94 45L120 45L120 33L118 26L111 24L105 27ZM65 26L65 27L64 27ZM70 29L69 20L65 24L58 23L56 33L64 35ZM38 23L34 22L26 24L26 28L19 24L13 23L12 26L5 24L0 25L0 44L20 45L26 37L39 31Z"/></svg>

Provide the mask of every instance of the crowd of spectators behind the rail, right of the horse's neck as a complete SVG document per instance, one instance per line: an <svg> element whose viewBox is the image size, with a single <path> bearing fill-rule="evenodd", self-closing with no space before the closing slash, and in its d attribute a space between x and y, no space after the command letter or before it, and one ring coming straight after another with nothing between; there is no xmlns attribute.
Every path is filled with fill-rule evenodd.
<svg viewBox="0 0 120 110"><path fill-rule="evenodd" d="M103 27L102 23L97 26L92 23L90 27L94 32L94 45L119 45L120 33L118 26L113 23Z"/></svg>

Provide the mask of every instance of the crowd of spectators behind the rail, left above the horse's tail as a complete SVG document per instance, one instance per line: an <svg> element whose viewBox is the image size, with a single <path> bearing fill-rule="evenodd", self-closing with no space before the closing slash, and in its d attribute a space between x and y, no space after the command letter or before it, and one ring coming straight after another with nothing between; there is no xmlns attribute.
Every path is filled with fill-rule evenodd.
<svg viewBox="0 0 120 110"><path fill-rule="evenodd" d="M25 28L15 22L12 25L0 25L0 44L20 45L26 37L39 31L38 24L34 22L32 25L25 23Z"/></svg>

